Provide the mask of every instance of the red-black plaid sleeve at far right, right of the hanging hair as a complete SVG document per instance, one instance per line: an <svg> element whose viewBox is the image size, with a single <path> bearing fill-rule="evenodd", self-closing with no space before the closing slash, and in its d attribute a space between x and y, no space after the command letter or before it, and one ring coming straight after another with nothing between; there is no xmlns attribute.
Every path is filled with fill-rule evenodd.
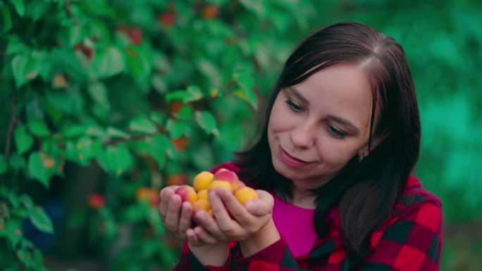
<svg viewBox="0 0 482 271"><path fill-rule="evenodd" d="M414 204L371 237L373 254L361 270L438 270L442 242L440 201Z"/></svg>

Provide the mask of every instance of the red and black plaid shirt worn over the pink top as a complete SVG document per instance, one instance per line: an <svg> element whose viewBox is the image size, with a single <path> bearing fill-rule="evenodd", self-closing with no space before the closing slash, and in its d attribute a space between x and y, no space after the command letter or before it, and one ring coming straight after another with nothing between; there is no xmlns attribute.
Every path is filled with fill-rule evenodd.
<svg viewBox="0 0 482 271"><path fill-rule="evenodd" d="M243 258L239 246L231 242L225 265L213 267L199 263L184 244L179 263L173 271L438 270L442 242L440 200L411 176L391 218L371 234L373 252L357 267L347 257L338 207L334 206L326 214L327 234L319 236L306 255L295 258L283 237L248 258Z"/></svg>

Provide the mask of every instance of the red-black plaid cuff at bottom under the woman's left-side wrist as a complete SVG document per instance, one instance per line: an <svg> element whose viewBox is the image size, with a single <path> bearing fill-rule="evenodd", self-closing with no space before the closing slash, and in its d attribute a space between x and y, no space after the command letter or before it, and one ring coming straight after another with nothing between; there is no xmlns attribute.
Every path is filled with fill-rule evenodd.
<svg viewBox="0 0 482 271"><path fill-rule="evenodd" d="M172 271L229 271L231 264L231 253L228 255L228 260L223 266L202 265L199 260L192 254L185 242L181 248L181 255L178 264Z"/></svg>

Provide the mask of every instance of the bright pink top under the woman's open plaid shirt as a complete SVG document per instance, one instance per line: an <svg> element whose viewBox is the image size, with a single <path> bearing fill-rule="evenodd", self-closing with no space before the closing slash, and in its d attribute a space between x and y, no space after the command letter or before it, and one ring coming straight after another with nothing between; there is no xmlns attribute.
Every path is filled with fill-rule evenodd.
<svg viewBox="0 0 482 271"><path fill-rule="evenodd" d="M273 195L273 220L293 256L309 253L318 237L314 228L314 209L301 208Z"/></svg>

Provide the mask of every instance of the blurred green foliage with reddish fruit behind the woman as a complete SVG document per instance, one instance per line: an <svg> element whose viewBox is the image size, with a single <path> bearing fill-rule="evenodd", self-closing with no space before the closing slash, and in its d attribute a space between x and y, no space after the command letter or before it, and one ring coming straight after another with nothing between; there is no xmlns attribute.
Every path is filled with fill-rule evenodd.
<svg viewBox="0 0 482 271"><path fill-rule="evenodd" d="M0 270L169 270L157 193L233 157L303 37L357 21L407 53L441 270L482 270L482 2L0 1Z"/></svg>

